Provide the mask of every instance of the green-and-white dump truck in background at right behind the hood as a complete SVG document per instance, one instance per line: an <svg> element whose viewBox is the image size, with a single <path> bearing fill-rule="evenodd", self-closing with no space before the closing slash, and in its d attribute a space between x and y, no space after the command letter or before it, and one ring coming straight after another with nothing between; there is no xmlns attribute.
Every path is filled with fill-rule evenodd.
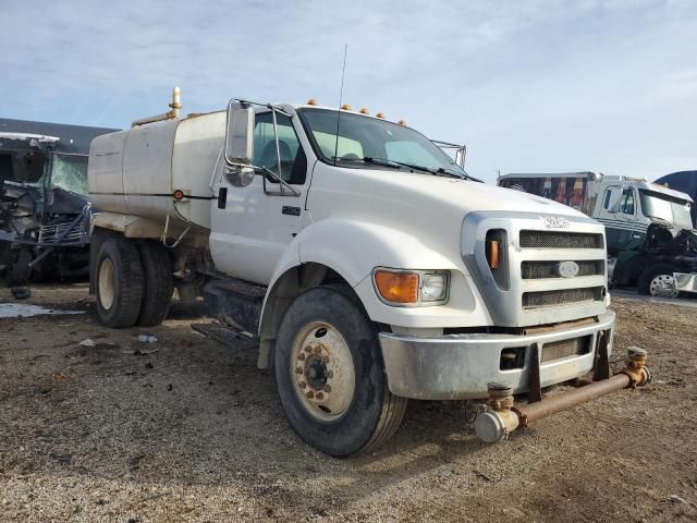
<svg viewBox="0 0 697 523"><path fill-rule="evenodd" d="M689 290L677 285L675 276L697 271L689 195L647 180L592 172L512 173L498 184L568 205L604 224L613 284L667 297Z"/></svg>

